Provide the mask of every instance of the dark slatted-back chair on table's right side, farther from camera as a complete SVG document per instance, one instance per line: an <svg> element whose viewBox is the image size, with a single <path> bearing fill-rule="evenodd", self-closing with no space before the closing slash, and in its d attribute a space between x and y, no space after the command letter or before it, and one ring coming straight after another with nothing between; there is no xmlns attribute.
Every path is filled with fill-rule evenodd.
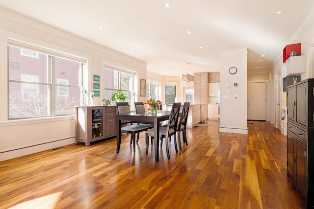
<svg viewBox="0 0 314 209"><path fill-rule="evenodd" d="M181 139L180 139L180 133L181 132L182 132L182 136L183 136L183 143L185 143L187 145L186 122L187 122L187 116L188 116L189 109L190 109L190 102L184 102L183 108L181 111L180 120L178 122L177 129L176 129L176 132L178 133L178 144L179 144L180 150L182 150Z"/></svg>

